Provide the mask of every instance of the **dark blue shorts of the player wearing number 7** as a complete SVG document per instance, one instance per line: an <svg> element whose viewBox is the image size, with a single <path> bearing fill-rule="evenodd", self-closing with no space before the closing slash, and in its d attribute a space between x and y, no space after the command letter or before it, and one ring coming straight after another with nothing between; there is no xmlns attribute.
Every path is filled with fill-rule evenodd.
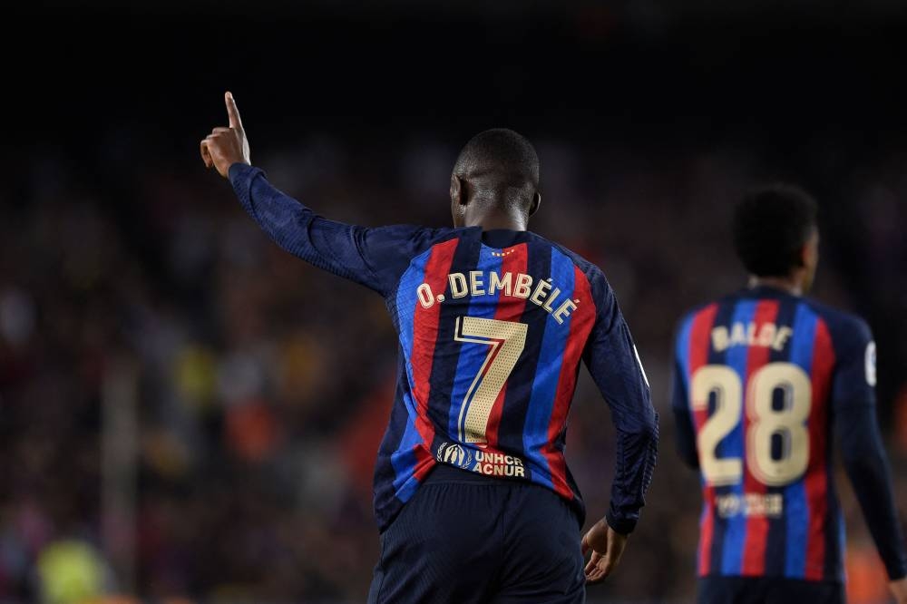
<svg viewBox="0 0 907 604"><path fill-rule="evenodd" d="M580 604L584 566L556 493L441 465L381 534L368 601Z"/></svg>

